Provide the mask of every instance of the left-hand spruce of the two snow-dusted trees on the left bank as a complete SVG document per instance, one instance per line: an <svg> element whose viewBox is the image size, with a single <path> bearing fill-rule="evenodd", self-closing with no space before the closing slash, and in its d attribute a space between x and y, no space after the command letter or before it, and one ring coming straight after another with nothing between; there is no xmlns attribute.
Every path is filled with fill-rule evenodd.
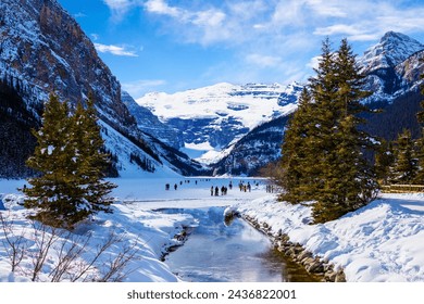
<svg viewBox="0 0 424 304"><path fill-rule="evenodd" d="M28 197L25 206L36 208L34 216L51 226L62 226L73 212L72 197L68 195L72 179L72 140L68 106L51 94L46 103L42 126L33 132L37 148L27 165L39 173L28 179L32 185L24 189Z"/></svg>

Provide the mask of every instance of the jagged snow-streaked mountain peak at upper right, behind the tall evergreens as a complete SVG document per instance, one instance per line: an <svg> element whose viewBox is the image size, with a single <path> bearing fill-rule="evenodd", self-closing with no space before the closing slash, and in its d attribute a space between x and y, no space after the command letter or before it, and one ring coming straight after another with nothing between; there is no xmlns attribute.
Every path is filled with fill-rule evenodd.
<svg viewBox="0 0 424 304"><path fill-rule="evenodd" d="M395 67L413 53L424 49L420 41L396 31L387 31L379 42L364 52L359 63L364 71Z"/></svg>

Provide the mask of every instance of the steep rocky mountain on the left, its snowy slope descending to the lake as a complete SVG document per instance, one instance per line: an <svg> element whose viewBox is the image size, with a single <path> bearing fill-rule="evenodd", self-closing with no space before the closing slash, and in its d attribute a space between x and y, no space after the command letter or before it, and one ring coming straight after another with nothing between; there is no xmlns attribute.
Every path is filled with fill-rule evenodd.
<svg viewBox="0 0 424 304"><path fill-rule="evenodd" d="M22 103L0 106L0 116L12 122L25 112L25 116L39 123L42 104L53 91L61 100L73 104L91 94L107 149L122 175L129 172L158 175L169 172L169 167L189 175L200 168L187 155L138 128L136 118L122 101L121 84L98 56L93 43L76 21L57 0L1 0L0 79L8 87L0 88L0 97L11 87L20 97L14 100ZM1 99L2 102L8 100ZM0 142L3 147L18 148L16 143L30 141L25 137L30 137L29 127L36 125L25 126L22 131L21 125L10 127L2 119L0 129L5 128L7 136L2 131ZM34 151L34 140L32 144ZM11 161L8 155L16 154L13 151L5 156L2 153L0 176L24 175L13 172L15 164L24 161ZM3 161L8 163L3 164ZM4 167L8 169L3 170Z"/></svg>

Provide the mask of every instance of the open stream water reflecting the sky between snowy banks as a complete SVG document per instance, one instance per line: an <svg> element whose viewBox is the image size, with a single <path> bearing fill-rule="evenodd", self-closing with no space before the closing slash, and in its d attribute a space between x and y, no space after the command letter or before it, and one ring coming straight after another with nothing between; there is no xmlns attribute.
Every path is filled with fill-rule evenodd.
<svg viewBox="0 0 424 304"><path fill-rule="evenodd" d="M185 281L314 281L303 268L287 263L267 237L242 219L235 218L226 226L222 207L163 212L189 213L199 220L187 242L165 259Z"/></svg>

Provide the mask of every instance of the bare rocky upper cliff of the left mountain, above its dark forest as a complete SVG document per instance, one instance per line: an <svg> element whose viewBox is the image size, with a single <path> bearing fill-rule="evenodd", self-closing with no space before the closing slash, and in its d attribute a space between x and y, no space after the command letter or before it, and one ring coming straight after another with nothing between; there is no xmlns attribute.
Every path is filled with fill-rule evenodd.
<svg viewBox="0 0 424 304"><path fill-rule="evenodd" d="M29 102L53 91L77 102L91 92L103 119L134 123L120 83L55 0L2 0L0 12L0 69L34 88Z"/></svg>

